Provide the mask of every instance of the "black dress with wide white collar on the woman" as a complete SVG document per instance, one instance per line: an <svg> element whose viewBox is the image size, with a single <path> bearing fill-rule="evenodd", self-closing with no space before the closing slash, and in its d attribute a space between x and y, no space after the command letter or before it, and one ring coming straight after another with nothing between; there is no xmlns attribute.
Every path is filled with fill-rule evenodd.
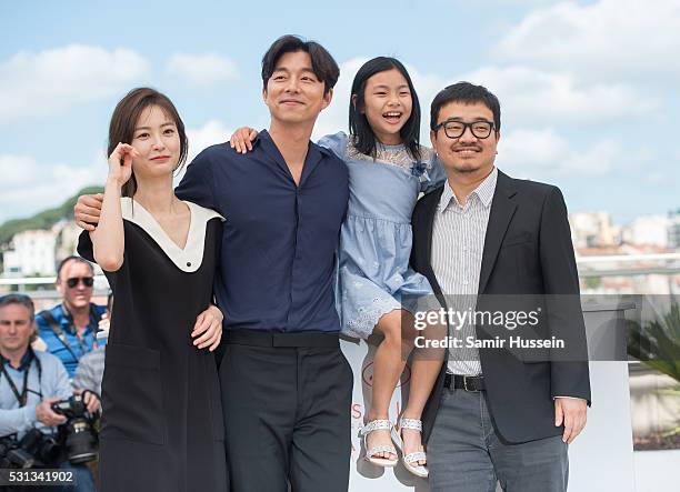
<svg viewBox="0 0 680 492"><path fill-rule="evenodd" d="M224 492L228 475L216 360L190 333L212 300L222 218L191 210L187 245L121 199L126 250L113 290L102 381L103 492ZM78 252L93 261L88 232Z"/></svg>

